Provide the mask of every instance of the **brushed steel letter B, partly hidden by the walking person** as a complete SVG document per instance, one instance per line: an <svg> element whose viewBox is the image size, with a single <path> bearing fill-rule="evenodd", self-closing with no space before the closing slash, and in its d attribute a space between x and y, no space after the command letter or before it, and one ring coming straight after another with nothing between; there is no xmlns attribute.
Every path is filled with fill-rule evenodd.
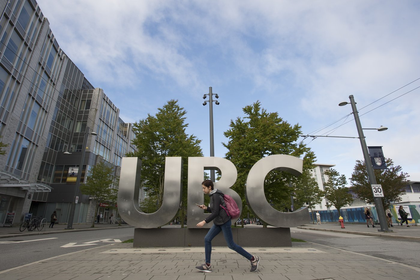
<svg viewBox="0 0 420 280"><path fill-rule="evenodd" d="M236 182L238 172L235 165L221 157L189 157L188 158L188 228L197 228L197 223L204 220L210 214L195 205L204 203L204 195L201 187L204 181L204 170L218 170L221 174L220 180L214 183L214 188L219 189L223 194L233 197L242 212L242 200L236 191L230 187ZM237 219L235 219L236 221ZM235 222L232 220L232 222ZM210 228L212 222L204 225L203 228Z"/></svg>

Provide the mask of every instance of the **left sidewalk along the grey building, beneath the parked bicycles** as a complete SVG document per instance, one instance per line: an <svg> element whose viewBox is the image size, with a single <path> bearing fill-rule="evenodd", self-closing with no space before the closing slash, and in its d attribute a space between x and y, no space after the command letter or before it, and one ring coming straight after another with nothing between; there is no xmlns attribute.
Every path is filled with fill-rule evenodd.
<svg viewBox="0 0 420 280"><path fill-rule="evenodd" d="M54 228L49 228L48 226L50 223L47 223L47 226L38 231L28 231L27 229L24 231L19 230L20 225L16 225L13 227L0 227L0 238L8 238L8 237L16 237L16 236L30 236L30 235L40 235L40 234L48 234L48 233L65 233L69 230L66 230L67 224L55 224ZM73 230L71 231L81 231L81 230L100 230L100 229L108 229L108 228L118 228L118 224L109 224L109 223L95 223L95 228L91 228L91 223L83 223L83 224L73 224ZM122 224L121 227L131 227L131 225Z"/></svg>

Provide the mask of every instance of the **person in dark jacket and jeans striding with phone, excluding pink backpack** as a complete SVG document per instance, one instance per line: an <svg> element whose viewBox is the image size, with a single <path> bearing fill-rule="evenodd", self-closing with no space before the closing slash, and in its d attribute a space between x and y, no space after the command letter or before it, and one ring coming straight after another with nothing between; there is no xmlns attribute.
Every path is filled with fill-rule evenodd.
<svg viewBox="0 0 420 280"><path fill-rule="evenodd" d="M221 231L223 231L223 236L225 237L226 243L228 244L229 249L236 251L238 254L244 256L251 262L250 272L255 272L258 269L258 263L260 262L259 256L252 256L247 251L245 251L241 246L237 245L233 240L232 228L231 228L231 217L228 216L227 212L220 207L226 207L226 203L223 199L223 193L215 189L213 182L211 180L205 180L201 183L204 194L210 196L210 207L202 205L197 205L201 209L210 212L211 215L205 220L199 222L197 227L201 228L206 223L213 221L213 226L208 231L207 235L204 238L204 249L205 249L205 264L195 267L197 270L202 272L212 272L213 269L210 264L211 258L211 241L217 236Z"/></svg>

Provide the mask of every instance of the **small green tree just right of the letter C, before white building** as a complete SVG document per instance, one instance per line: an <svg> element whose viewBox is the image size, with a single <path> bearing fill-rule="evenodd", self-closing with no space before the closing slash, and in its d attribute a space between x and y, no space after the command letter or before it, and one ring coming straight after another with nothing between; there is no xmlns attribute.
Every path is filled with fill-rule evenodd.
<svg viewBox="0 0 420 280"><path fill-rule="evenodd" d="M302 175L292 184L294 187L295 204L302 206L307 203L312 212L312 221L315 217L312 209L322 202L325 191L321 190L315 178L311 176L309 170L305 170Z"/></svg>

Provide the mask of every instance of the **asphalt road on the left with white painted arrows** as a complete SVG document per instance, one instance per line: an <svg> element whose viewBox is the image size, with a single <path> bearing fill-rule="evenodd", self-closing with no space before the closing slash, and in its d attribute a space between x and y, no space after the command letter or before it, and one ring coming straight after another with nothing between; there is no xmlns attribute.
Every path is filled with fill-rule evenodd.
<svg viewBox="0 0 420 280"><path fill-rule="evenodd" d="M113 244L133 238L133 236L134 228L123 227L1 238L0 270L83 249Z"/></svg>

